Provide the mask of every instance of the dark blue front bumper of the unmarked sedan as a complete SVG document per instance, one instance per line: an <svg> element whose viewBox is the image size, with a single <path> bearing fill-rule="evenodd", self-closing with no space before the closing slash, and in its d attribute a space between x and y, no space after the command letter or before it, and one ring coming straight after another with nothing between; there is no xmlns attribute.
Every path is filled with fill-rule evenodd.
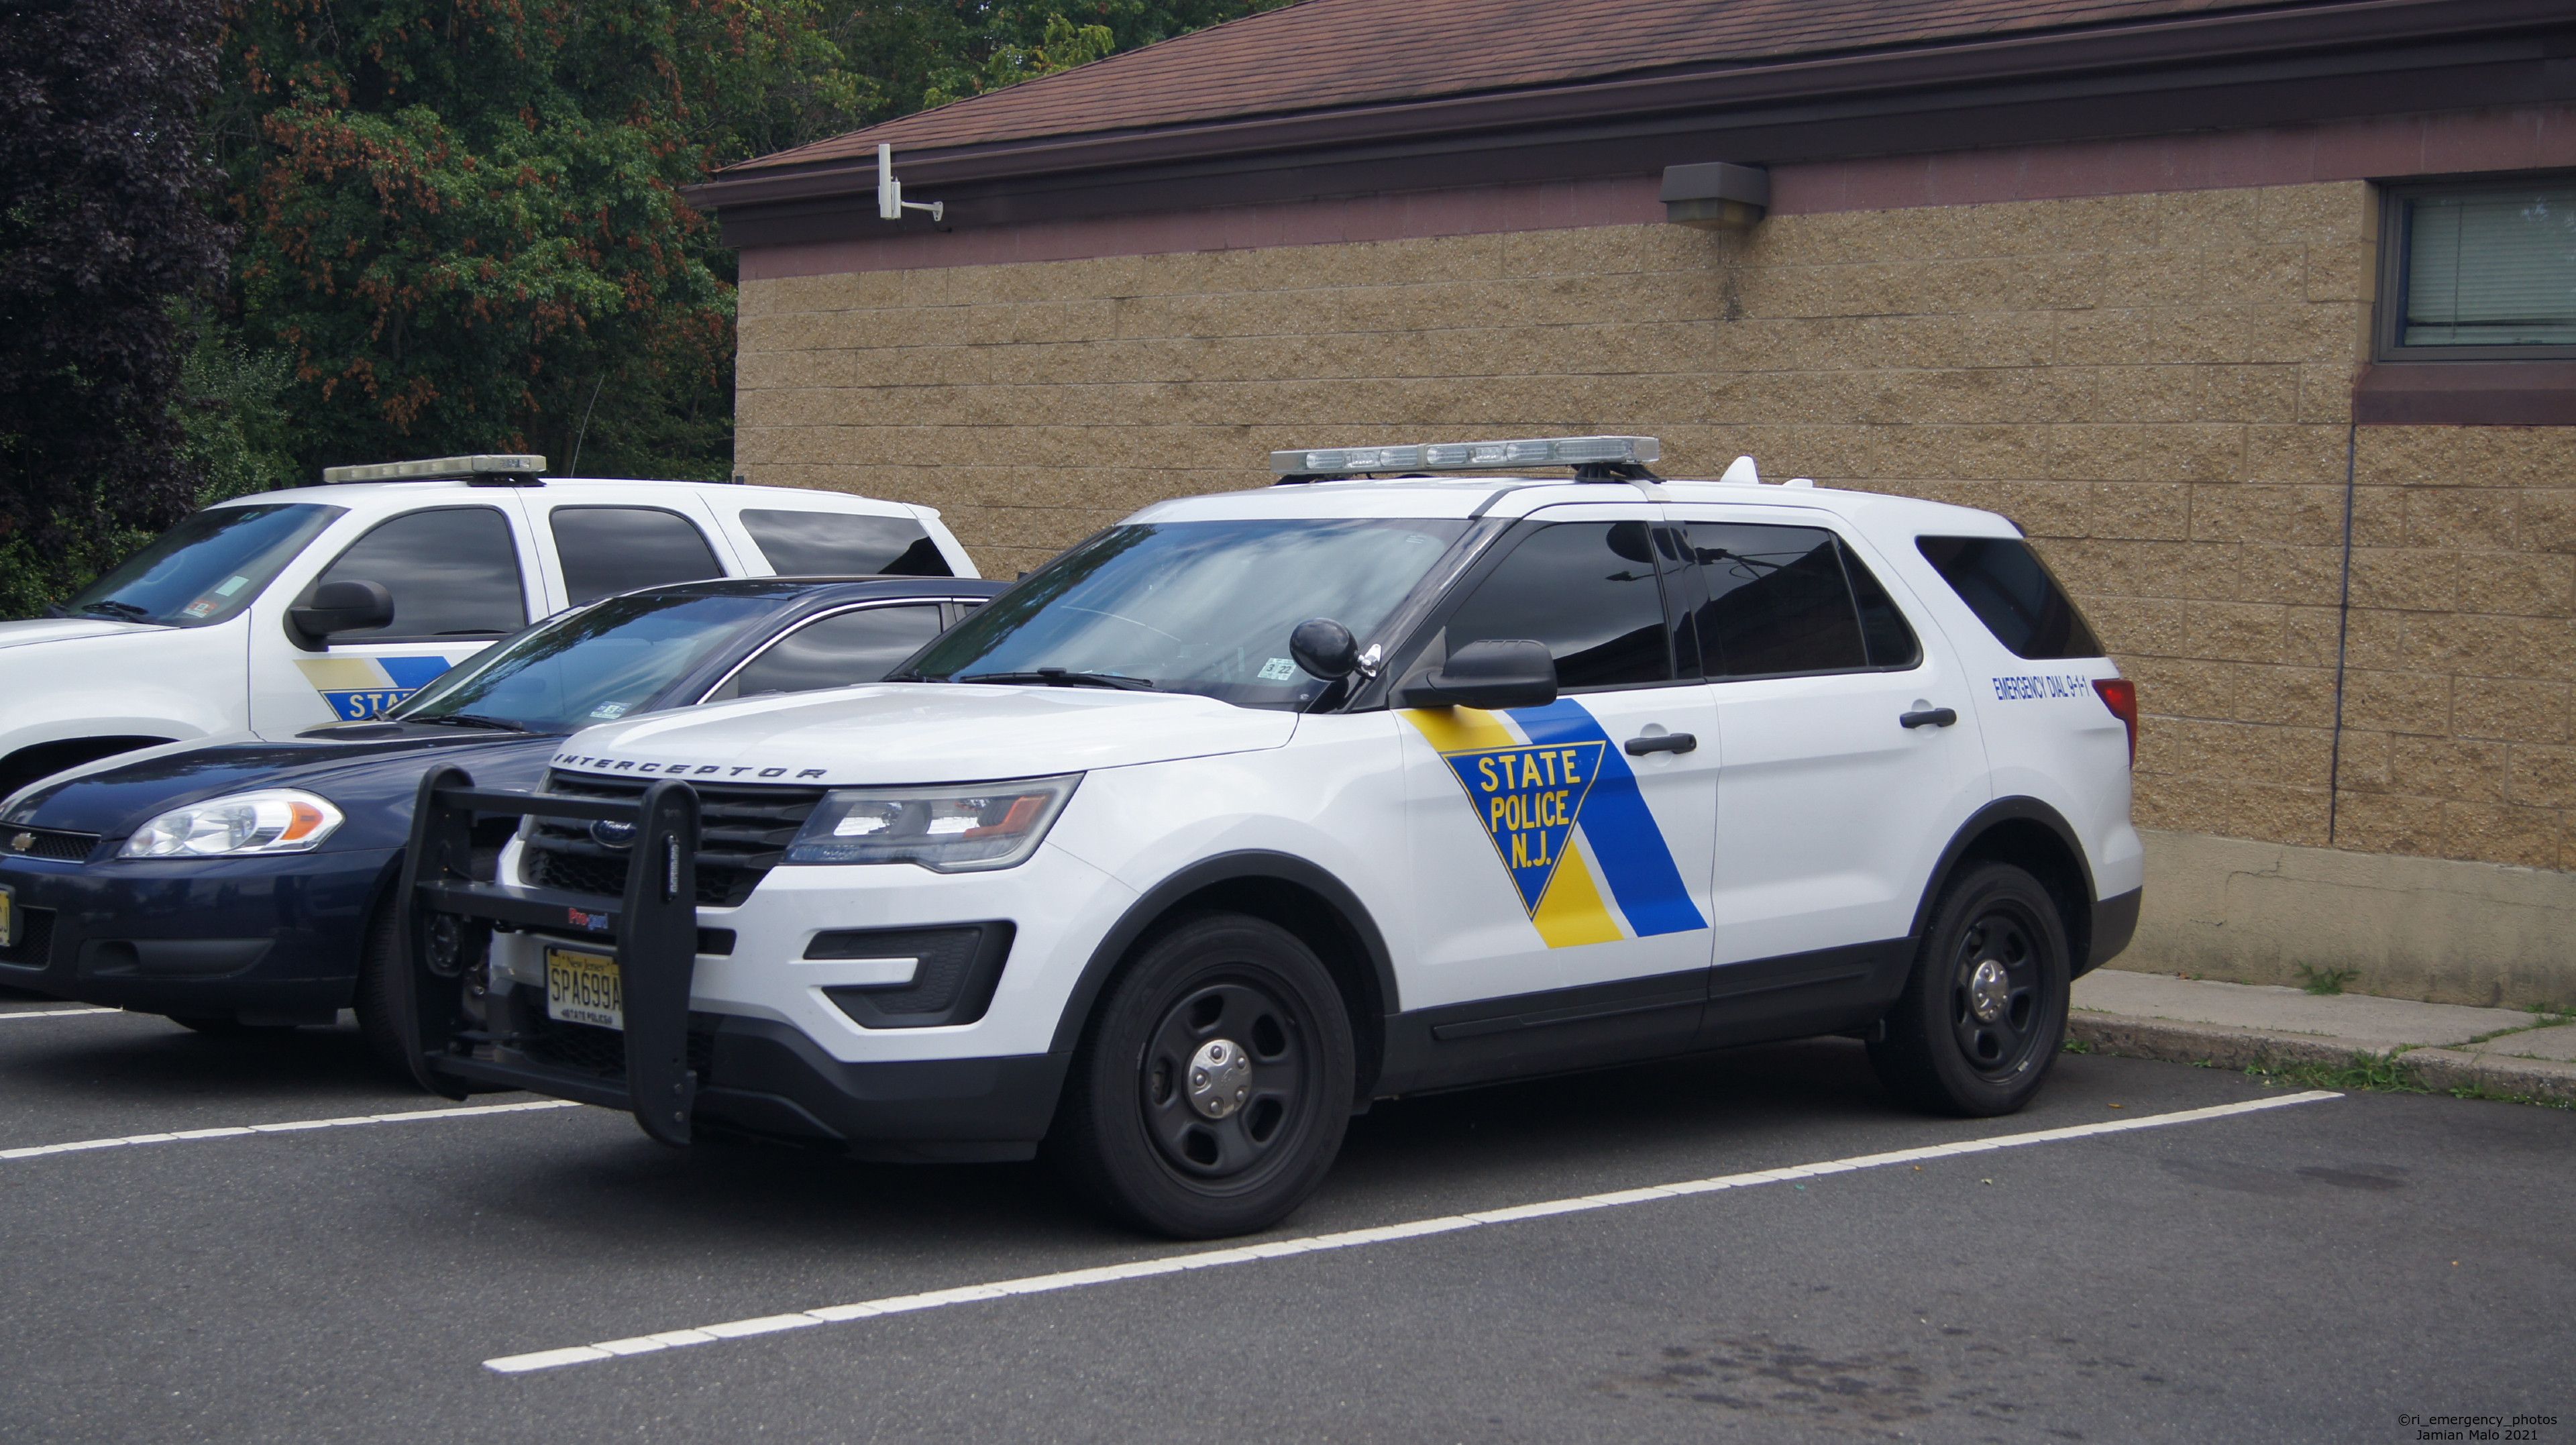
<svg viewBox="0 0 2576 1445"><path fill-rule="evenodd" d="M278 858L0 860L21 940L0 984L167 1015L307 1023L350 1002L397 850Z"/></svg>

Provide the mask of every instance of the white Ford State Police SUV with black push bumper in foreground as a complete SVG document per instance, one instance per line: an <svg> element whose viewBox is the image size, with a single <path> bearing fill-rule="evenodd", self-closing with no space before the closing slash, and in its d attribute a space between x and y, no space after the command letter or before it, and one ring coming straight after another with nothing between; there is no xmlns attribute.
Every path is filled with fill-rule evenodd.
<svg viewBox="0 0 2576 1445"><path fill-rule="evenodd" d="M1656 451L1275 453L889 683L430 778L422 1082L1043 1144L1180 1236L1278 1221L1419 1090L1857 1033L1914 1105L2020 1108L2136 925L2130 685L1994 513ZM474 811L528 814L502 883Z"/></svg>

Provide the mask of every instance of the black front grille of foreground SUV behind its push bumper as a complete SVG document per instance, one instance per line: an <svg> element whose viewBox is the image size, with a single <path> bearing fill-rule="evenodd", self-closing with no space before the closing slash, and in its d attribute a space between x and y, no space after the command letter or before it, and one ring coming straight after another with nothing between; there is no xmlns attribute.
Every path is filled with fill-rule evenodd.
<svg viewBox="0 0 2576 1445"><path fill-rule="evenodd" d="M598 773L546 773L559 798L636 801L654 778L600 778ZM822 788L690 783L698 791L698 904L732 909L752 896L760 876L796 842ZM531 819L523 881L572 894L626 896L629 847L603 847L580 819Z"/></svg>

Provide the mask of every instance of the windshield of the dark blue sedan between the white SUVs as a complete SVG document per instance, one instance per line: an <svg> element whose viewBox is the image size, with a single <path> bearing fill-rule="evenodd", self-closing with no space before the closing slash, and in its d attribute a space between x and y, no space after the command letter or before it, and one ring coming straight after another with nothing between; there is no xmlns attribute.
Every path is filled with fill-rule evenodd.
<svg viewBox="0 0 2576 1445"><path fill-rule="evenodd" d="M662 688L724 647L742 623L775 608L775 592L608 598L484 649L386 716L402 721L464 716L518 724L528 732L577 732L644 711Z"/></svg>

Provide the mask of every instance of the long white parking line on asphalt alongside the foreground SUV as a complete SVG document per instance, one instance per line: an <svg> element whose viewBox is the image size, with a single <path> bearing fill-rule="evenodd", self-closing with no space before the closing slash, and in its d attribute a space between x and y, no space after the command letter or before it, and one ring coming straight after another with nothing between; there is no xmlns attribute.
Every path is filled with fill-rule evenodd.
<svg viewBox="0 0 2576 1445"><path fill-rule="evenodd" d="M2236 1105L2192 1108L2177 1113L2154 1113L2143 1118L2120 1118L2110 1123L2079 1123L2071 1128L2040 1128L2032 1133L1999 1133L1991 1138L1968 1138L1960 1144L1932 1144L1927 1149L1896 1149L1893 1154L1860 1154L1852 1159L1826 1159L1821 1164L1793 1164L1788 1169L1754 1169L1749 1175L1718 1175L1713 1180L1685 1180L1680 1185L1649 1185L1641 1190L1615 1190L1607 1195L1582 1195L1569 1200L1525 1203L1512 1208L1492 1208L1479 1213L1453 1213L1443 1218L1414 1218L1406 1223L1381 1223L1376 1229L1350 1229L1342 1234L1311 1234L1306 1239L1273 1239L1267 1244L1242 1244L1229 1249L1200 1249L1198 1254L1170 1254L1162 1260L1139 1260L1133 1265L1100 1265L1095 1270L1066 1270L1061 1275L1030 1275L1025 1280L997 1280L989 1285L958 1285L951 1290L930 1290L920 1296L889 1296L860 1303L829 1303L822 1308L806 1308L793 1314L765 1314L757 1319L729 1319L724 1324L701 1324L696 1329L667 1329L662 1334L636 1334L631 1339L603 1339L598 1345L572 1345L564 1350L536 1350L531 1355L502 1355L500 1360L484 1360L487 1370L500 1370L502 1375L526 1375L531 1370L559 1370L564 1365L587 1365L590 1360L616 1360L618 1355L649 1355L654 1350L672 1350L680 1345L708 1345L714 1339L739 1339L744 1334L775 1334L781 1329L811 1329L817 1324L840 1324L848 1319L868 1319L878 1314L907 1314L914 1308L945 1308L953 1303L994 1301L1007 1296L1036 1296L1046 1290L1074 1290L1084 1285L1108 1285L1115 1280L1144 1280L1149 1275L1177 1275L1182 1270L1211 1270L1218 1265L1252 1265L1255 1260L1278 1260L1283 1254L1316 1254L1324 1249L1352 1249L1358 1244L1383 1244L1388 1239L1414 1239L1422 1234L1450 1234L1458 1229L1481 1229L1486 1223L1510 1223L1515 1218L1543 1218L1551 1213L1579 1213L1589 1208L1620 1208L1646 1200L1669 1200L1682 1195L1705 1195L1713 1190L1741 1190L1749 1185L1775 1185L1785 1180L1814 1180L1816 1175L1844 1175L1850 1169L1883 1169L1888 1164L1914 1164L1922 1159L1955 1159L1960 1154L1989 1154L1996 1149L2020 1149L2027 1144L2061 1144L2069 1138L2094 1138L2099 1133L2128 1133L2136 1128L2161 1128L2169 1123L2200 1123L2205 1118L2226 1118L2236 1113L2257 1113L2269 1108L2308 1105L2324 1100L2339 1100L2342 1095L2313 1090L2306 1095L2285 1095L2277 1100L2246 1100Z"/></svg>

